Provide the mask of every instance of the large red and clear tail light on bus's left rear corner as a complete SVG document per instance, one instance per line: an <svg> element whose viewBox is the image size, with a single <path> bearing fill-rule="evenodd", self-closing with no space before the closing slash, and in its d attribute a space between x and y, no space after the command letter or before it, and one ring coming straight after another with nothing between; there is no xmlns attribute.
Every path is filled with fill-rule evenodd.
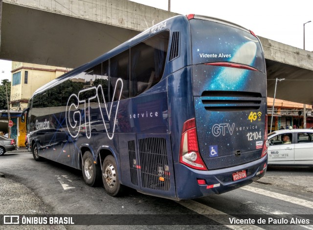
<svg viewBox="0 0 313 230"><path fill-rule="evenodd" d="M179 148L179 163L198 170L207 170L199 153L195 118L185 121Z"/></svg>

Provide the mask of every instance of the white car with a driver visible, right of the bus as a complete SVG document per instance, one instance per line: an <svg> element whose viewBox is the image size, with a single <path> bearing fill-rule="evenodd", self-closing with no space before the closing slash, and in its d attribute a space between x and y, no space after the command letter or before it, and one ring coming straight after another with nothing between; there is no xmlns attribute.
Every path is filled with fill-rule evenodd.
<svg viewBox="0 0 313 230"><path fill-rule="evenodd" d="M313 166L312 129L278 130L268 141L268 165Z"/></svg>

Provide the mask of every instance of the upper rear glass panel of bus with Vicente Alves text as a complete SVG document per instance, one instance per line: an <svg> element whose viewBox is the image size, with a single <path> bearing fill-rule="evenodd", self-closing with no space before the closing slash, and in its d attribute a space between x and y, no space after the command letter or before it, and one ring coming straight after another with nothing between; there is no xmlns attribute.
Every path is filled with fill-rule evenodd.
<svg viewBox="0 0 313 230"><path fill-rule="evenodd" d="M232 62L265 72L263 51L250 32L223 23L190 20L193 64Z"/></svg>

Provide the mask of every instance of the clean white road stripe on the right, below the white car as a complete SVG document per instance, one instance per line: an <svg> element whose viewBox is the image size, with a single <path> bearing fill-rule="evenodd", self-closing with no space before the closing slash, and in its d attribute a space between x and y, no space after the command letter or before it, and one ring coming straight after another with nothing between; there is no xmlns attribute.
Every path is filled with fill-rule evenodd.
<svg viewBox="0 0 313 230"><path fill-rule="evenodd" d="M241 187L240 189L244 189L246 191L250 191L250 192L254 192L254 193L258 193L264 196L269 196L275 199L279 199L282 201L287 201L296 205L301 205L304 207L309 207L309 208L313 208L313 202L312 201L307 201L307 200L303 200L300 198L296 198L296 197L292 197L292 196L288 196L288 195L284 195L284 194L280 194L277 192L272 192L272 191L268 191L262 188L256 188L256 187L252 187L252 186L244 186Z"/></svg>

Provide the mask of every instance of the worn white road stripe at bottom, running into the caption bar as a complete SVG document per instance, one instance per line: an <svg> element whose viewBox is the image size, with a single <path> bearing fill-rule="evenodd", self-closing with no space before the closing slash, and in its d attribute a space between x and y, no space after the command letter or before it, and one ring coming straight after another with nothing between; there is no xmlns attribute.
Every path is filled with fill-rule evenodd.
<svg viewBox="0 0 313 230"><path fill-rule="evenodd" d="M233 230L263 230L262 228L255 226L255 225L228 225L227 223L230 222L230 221L228 222L229 220L228 218L233 218L233 216L228 215L222 211L219 211L212 207L208 207L206 205L203 205L193 200L182 200L182 201L177 201L177 203L201 215L210 215L209 218L211 220L214 220L215 222L218 222ZM225 216L227 218L225 218Z"/></svg>

